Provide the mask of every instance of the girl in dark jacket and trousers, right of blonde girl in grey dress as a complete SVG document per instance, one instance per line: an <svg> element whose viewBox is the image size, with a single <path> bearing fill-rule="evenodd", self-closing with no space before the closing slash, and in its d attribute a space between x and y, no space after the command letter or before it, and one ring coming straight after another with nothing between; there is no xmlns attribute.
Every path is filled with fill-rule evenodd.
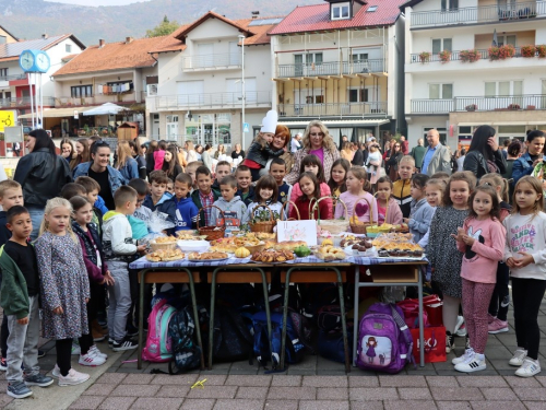
<svg viewBox="0 0 546 410"><path fill-rule="evenodd" d="M90 280L91 298L87 303L87 320L91 335L84 335L82 338L87 338L87 343L91 345L87 354L80 355L80 364L84 366L99 366L106 362L108 358L102 353L94 344L95 341L105 339L107 330L103 330L98 321L96 321L96 311L98 309L97 302L99 302L100 286L105 283L108 285L114 284L114 278L108 271L103 253L103 245L95 230L95 225L91 222L93 218L93 206L86 198L73 197L70 199L72 206L73 221L72 231L80 239L82 247L83 261L87 269Z"/></svg>

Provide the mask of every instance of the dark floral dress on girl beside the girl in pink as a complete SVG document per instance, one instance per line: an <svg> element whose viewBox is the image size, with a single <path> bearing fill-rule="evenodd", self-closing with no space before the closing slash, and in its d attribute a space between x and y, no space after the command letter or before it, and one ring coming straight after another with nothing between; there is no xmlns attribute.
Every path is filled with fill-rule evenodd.
<svg viewBox="0 0 546 410"><path fill-rule="evenodd" d="M456 210L453 207L438 207L430 223L428 239L428 258L435 269L432 281L438 283L443 294L462 297L461 266L463 254L456 248L456 229L463 227L468 210Z"/></svg>

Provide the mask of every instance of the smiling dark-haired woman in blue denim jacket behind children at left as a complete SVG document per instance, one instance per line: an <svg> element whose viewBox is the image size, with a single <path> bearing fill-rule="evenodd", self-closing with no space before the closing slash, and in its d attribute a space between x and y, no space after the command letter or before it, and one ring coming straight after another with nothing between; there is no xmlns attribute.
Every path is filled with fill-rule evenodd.
<svg viewBox="0 0 546 410"><path fill-rule="evenodd" d="M95 179L100 186L98 195L104 199L106 208L111 211L116 209L114 192L124 185L126 180L118 169L108 164L109 159L110 145L105 141L94 142L91 145L91 161L75 167L74 179L79 176L90 176Z"/></svg>

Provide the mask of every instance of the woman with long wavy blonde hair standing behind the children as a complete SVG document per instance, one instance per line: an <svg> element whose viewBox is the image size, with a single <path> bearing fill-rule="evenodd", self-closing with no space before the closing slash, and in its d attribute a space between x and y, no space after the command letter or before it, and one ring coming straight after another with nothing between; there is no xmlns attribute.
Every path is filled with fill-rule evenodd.
<svg viewBox="0 0 546 410"><path fill-rule="evenodd" d="M335 147L332 137L328 132L328 128L321 121L310 121L304 133L302 144L304 148L294 155L294 166L290 173L286 175L285 180L290 185L296 184L299 177L301 160L306 155L314 154L322 161L328 183L332 172L332 164L340 159L340 151L337 151L337 147Z"/></svg>

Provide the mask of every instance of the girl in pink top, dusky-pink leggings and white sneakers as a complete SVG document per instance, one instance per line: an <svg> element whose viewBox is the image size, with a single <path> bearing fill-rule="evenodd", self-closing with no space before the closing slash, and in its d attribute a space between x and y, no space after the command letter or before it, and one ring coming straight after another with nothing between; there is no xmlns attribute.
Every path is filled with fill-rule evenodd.
<svg viewBox="0 0 546 410"><path fill-rule="evenodd" d="M480 185L472 192L468 203L470 215L463 227L458 229L456 235L451 234L463 254L463 312L470 338L470 347L464 354L451 363L455 365L455 371L464 373L486 368L487 308L506 242L506 230L499 222L497 191L490 186Z"/></svg>

